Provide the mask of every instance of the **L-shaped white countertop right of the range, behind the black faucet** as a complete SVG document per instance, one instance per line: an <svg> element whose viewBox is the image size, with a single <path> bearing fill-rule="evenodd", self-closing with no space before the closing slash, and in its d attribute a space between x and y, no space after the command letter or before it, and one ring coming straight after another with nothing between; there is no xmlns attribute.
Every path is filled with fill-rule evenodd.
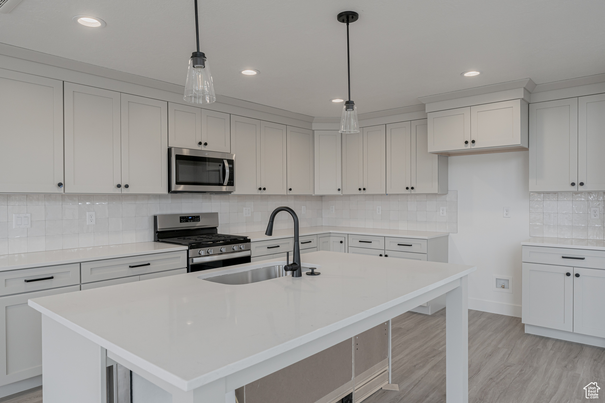
<svg viewBox="0 0 605 403"><path fill-rule="evenodd" d="M440 236L448 236L450 233L446 232L430 232L430 231L407 231L407 230L382 230L381 228L358 228L358 227L301 227L299 228L299 235L315 235L325 233L337 233L337 234L359 234L359 235L374 235L374 236L394 236L404 238L416 238L416 239L431 239ZM264 231L256 232L245 232L240 234L234 234L238 236L247 236L252 242L257 240L265 240L269 238L287 238L294 236L294 229L289 228L287 230L273 230L273 236L266 236Z"/></svg>

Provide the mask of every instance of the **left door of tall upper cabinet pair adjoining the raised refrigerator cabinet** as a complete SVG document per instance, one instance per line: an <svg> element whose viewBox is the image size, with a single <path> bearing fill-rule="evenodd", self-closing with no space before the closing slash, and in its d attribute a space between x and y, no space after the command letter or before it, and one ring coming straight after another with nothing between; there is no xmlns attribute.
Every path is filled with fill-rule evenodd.
<svg viewBox="0 0 605 403"><path fill-rule="evenodd" d="M387 124L388 194L411 192L411 144L411 122Z"/></svg>

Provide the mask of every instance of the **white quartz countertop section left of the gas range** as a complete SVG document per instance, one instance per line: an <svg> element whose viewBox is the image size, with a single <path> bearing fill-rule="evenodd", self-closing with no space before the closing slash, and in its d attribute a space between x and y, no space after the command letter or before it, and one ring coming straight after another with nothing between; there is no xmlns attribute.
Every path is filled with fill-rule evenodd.
<svg viewBox="0 0 605 403"><path fill-rule="evenodd" d="M170 243L137 242L122 243L120 245L106 245L103 247L15 253L0 255L0 271L184 250L187 250L187 247L171 245Z"/></svg>

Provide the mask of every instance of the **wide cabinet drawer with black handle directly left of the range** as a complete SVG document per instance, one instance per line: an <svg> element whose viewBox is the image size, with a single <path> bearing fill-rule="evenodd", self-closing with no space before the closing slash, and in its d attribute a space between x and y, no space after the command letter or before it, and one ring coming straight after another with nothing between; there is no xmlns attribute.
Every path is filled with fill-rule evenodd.
<svg viewBox="0 0 605 403"><path fill-rule="evenodd" d="M154 253L82 263L82 283L136 276L187 266L187 251Z"/></svg>

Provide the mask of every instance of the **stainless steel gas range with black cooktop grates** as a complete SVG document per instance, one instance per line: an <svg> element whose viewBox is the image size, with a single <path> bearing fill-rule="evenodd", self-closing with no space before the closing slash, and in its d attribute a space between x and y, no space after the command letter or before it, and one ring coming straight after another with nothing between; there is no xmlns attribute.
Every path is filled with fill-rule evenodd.
<svg viewBox="0 0 605 403"><path fill-rule="evenodd" d="M217 227L218 213L158 214L154 240L188 247L188 272L250 263L250 239Z"/></svg>

